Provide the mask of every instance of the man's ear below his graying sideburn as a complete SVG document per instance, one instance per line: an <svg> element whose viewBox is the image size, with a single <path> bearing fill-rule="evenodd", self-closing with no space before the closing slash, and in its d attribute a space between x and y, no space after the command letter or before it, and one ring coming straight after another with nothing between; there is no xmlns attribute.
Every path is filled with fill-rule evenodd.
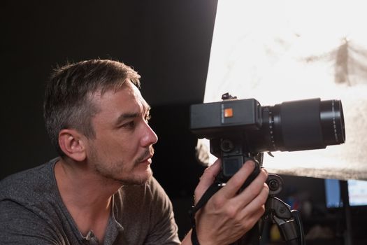
<svg viewBox="0 0 367 245"><path fill-rule="evenodd" d="M62 151L75 161L81 162L86 158L85 140L76 130L64 129L59 132L59 146Z"/></svg>

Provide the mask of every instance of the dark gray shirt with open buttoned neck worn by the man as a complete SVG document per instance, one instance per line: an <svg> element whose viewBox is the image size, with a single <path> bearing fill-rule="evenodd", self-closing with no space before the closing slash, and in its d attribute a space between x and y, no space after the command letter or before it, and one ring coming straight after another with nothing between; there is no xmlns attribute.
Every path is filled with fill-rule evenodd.
<svg viewBox="0 0 367 245"><path fill-rule="evenodd" d="M99 244L92 232L81 235L62 202L57 160L0 182L0 244ZM180 244L171 201L154 178L113 195L103 244Z"/></svg>

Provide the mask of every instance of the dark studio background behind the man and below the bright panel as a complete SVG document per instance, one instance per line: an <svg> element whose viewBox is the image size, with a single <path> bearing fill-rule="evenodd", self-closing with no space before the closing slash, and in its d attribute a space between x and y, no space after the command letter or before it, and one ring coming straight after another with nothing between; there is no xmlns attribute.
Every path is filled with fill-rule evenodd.
<svg viewBox="0 0 367 245"><path fill-rule="evenodd" d="M42 116L50 71L66 61L117 59L142 76L150 125L159 137L152 169L185 235L204 168L195 158L189 105L203 102L216 8L215 0L2 1L0 179L56 156ZM340 241L344 213L324 207L323 180L283 177L282 197L312 202L305 227L331 224Z"/></svg>

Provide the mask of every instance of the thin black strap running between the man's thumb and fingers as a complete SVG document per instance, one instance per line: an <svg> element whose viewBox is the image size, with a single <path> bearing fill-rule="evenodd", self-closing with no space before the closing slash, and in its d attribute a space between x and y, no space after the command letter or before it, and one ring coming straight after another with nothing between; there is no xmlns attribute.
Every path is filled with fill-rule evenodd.
<svg viewBox="0 0 367 245"><path fill-rule="evenodd" d="M196 211L201 209L206 204L206 202L208 202L210 197L212 197L218 190L220 190L220 188L222 188L222 184L217 182L213 183L200 198L199 202L195 206L193 206L192 209L189 210L189 215L192 221L192 232L191 232L192 245L200 245L198 237L196 235L196 221L195 221Z"/></svg>

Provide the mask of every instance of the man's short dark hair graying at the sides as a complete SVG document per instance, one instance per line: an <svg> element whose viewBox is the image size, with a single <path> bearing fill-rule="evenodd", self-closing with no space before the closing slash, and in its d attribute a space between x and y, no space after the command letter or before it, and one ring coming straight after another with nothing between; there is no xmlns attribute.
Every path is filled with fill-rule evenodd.
<svg viewBox="0 0 367 245"><path fill-rule="evenodd" d="M94 92L118 90L126 80L140 87L141 76L130 66L110 59L91 59L55 69L45 89L43 118L59 155L59 132L73 128L89 139L95 137L92 117L98 112L90 101Z"/></svg>

